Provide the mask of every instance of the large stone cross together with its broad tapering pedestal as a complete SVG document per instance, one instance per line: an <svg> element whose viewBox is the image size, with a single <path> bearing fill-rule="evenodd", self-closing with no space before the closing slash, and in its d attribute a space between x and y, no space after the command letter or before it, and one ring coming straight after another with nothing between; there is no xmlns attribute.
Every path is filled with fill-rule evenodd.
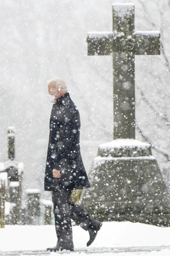
<svg viewBox="0 0 170 256"><path fill-rule="evenodd" d="M113 32L88 33L88 55L113 55L113 141L99 145L79 204L100 221L170 225L170 196L148 143L135 139L135 55L160 54L159 31L134 31L134 4L113 4ZM106 120L107 121L107 120Z"/></svg>

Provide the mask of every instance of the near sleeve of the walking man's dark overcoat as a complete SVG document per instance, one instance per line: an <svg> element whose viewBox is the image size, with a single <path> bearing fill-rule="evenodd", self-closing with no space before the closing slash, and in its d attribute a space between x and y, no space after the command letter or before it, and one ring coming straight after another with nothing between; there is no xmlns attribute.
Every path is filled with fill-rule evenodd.
<svg viewBox="0 0 170 256"><path fill-rule="evenodd" d="M67 109L63 112L59 120L59 126L55 133L56 156L54 160L54 169L59 169L57 161L62 157L69 157L71 145L74 140L74 134L77 134L79 123L74 109Z"/></svg>

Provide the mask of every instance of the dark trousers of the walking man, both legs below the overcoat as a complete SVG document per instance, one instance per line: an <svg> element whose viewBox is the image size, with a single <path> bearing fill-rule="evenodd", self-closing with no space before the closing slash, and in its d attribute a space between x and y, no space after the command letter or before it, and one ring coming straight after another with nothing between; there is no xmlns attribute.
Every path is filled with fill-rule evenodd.
<svg viewBox="0 0 170 256"><path fill-rule="evenodd" d="M71 193L72 189L65 188L52 192L57 245L61 247L73 247L71 219L84 230L99 230L101 224L100 221L92 219L85 209L68 200Z"/></svg>

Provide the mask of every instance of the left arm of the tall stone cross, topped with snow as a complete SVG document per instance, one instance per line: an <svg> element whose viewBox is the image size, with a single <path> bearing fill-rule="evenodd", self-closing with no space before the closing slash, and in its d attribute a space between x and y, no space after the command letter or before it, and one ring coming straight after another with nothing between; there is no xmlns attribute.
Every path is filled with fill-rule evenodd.
<svg viewBox="0 0 170 256"><path fill-rule="evenodd" d="M88 55L112 55L113 32L89 32Z"/></svg>

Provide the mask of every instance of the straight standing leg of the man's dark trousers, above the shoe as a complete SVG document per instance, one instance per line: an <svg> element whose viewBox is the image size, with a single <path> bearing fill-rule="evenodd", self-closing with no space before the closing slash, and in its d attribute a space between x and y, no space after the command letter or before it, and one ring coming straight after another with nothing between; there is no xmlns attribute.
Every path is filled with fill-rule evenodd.
<svg viewBox="0 0 170 256"><path fill-rule="evenodd" d="M52 193L54 204L55 228L57 246L61 249L73 248L73 234L71 226L70 208L68 205L68 190L58 189Z"/></svg>

